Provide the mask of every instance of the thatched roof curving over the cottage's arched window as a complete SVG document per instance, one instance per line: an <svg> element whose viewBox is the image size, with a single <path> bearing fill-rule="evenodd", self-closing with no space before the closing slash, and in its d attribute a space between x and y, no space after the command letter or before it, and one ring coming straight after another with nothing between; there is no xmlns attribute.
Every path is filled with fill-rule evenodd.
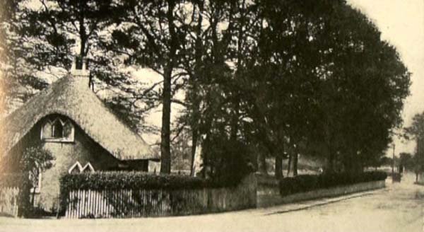
<svg viewBox="0 0 424 232"><path fill-rule="evenodd" d="M8 153L42 117L51 114L71 118L89 137L120 160L159 158L139 134L106 108L88 88L88 80L71 74L52 83L0 121L0 153Z"/></svg>

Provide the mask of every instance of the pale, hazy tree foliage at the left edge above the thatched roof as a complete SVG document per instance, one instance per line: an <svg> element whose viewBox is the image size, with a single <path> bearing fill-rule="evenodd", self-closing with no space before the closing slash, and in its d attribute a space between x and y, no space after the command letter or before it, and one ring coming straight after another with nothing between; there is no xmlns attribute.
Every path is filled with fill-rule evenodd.
<svg viewBox="0 0 424 232"><path fill-rule="evenodd" d="M0 101L1 114L14 110L19 102L25 102L34 91L47 86L37 79L32 64L33 52L40 50L37 43L23 36L28 21L23 20L23 2L2 1L0 10Z"/></svg>

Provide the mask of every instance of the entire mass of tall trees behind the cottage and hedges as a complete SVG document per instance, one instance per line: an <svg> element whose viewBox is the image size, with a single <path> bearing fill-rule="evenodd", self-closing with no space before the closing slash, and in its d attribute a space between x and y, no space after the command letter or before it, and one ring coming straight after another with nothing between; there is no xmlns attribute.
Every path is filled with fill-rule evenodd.
<svg viewBox="0 0 424 232"><path fill-rule="evenodd" d="M112 88L107 105L133 129L162 107L162 173L180 135L192 161L201 149L204 176L244 172L258 153L276 159L278 177L283 158L297 174L299 154L325 159L328 172L360 172L378 166L401 125L410 73L343 0L26 3L6 1L1 13L1 81L44 88L28 70L88 57L92 81ZM162 79L143 86L129 69ZM175 124L172 104L183 109Z"/></svg>

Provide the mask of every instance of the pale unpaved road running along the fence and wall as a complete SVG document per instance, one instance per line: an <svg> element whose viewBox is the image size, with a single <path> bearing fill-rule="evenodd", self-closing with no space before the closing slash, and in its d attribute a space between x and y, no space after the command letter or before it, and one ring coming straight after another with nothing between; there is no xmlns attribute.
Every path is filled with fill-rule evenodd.
<svg viewBox="0 0 424 232"><path fill-rule="evenodd" d="M146 219L10 219L0 231L424 231L424 186L413 176L382 190L221 214Z"/></svg>

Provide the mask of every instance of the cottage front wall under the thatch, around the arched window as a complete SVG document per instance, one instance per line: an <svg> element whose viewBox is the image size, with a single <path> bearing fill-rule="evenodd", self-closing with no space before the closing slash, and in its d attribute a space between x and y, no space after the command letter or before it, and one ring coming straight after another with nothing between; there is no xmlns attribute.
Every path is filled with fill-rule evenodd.
<svg viewBox="0 0 424 232"><path fill-rule="evenodd" d="M42 146L52 152L55 158L54 166L42 173L40 194L36 197L36 204L47 211L55 211L59 198L59 179L68 173L69 168L76 161L85 166L90 162L95 170L117 170L122 162L114 158L108 151L90 139L83 130L73 123L75 137L73 142L45 142L42 141L41 128L44 120L40 120L28 134L11 150L7 164L2 162L4 172L16 172L19 156L29 146ZM6 164L6 165L5 165Z"/></svg>

